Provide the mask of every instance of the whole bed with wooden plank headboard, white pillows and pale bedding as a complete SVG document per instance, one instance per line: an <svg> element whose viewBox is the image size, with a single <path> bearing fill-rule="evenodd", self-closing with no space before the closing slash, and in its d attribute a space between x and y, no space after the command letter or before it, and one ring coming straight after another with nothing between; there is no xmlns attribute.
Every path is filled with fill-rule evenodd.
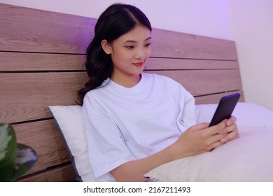
<svg viewBox="0 0 273 196"><path fill-rule="evenodd" d="M95 18L0 3L0 123L38 162L18 181L94 181L77 90L87 76L85 48ZM146 72L177 80L209 122L226 94L239 92L239 139L210 153L161 165L155 181L273 181L273 112L245 103L234 41L153 29ZM176 172L180 171L180 172Z"/></svg>

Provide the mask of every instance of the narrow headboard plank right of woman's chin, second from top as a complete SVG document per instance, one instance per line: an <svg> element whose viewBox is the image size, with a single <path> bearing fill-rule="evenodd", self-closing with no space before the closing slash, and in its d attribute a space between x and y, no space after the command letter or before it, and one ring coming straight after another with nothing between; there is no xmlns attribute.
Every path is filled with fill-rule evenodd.
<svg viewBox="0 0 273 196"><path fill-rule="evenodd" d="M237 61L204 60L204 59L148 59L147 70L153 69L238 69Z"/></svg>

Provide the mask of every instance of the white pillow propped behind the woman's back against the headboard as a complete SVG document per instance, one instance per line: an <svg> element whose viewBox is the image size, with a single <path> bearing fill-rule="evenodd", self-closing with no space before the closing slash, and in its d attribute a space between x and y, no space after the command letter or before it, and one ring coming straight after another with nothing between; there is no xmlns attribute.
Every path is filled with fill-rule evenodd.
<svg viewBox="0 0 273 196"><path fill-rule="evenodd" d="M94 181L81 106L49 106L69 150L77 181Z"/></svg>

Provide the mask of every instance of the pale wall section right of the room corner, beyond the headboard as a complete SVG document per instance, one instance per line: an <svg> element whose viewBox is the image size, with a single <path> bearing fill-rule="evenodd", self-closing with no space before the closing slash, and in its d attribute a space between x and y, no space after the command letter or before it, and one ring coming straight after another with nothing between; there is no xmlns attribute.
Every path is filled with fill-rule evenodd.
<svg viewBox="0 0 273 196"><path fill-rule="evenodd" d="M230 12L246 102L273 111L273 1L230 0Z"/></svg>

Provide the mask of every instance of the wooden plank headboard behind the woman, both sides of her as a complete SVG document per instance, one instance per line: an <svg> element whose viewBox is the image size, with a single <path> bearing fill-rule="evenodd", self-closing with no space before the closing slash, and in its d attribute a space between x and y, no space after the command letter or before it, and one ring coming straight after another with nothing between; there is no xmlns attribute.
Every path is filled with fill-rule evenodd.
<svg viewBox="0 0 273 196"><path fill-rule="evenodd" d="M0 3L0 123L12 123L18 142L38 153L18 181L75 181L48 106L76 104L96 21ZM162 29L153 29L152 37L146 71L179 81L197 104L243 94L234 41Z"/></svg>

